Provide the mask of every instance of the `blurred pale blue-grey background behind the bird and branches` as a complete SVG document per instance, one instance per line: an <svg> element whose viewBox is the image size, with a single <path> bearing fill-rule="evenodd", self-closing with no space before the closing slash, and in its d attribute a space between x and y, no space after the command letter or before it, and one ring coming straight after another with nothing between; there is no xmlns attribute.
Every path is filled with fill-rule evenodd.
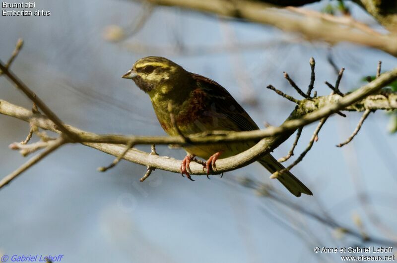
<svg viewBox="0 0 397 263"><path fill-rule="evenodd" d="M323 11L336 3L323 0L305 7ZM375 75L378 60L383 71L397 61L370 48L308 42L270 26L175 7L128 0L35 4L35 10L51 15L0 16L0 59L7 60L23 38L12 71L64 122L98 133L164 135L148 96L121 78L147 55L165 56L217 81L261 128L265 122L281 124L294 108L265 87L272 84L298 97L282 72L305 90L312 56L319 95L330 93L324 81L336 79L331 61L346 68L343 92ZM352 16L382 32L363 9L346 5ZM0 99L31 107L5 78L0 78ZM335 115L325 124L319 141L292 170L314 194L299 199L268 179L257 163L221 179L201 176L196 182L156 170L140 183L146 167L121 161L100 173L96 168L114 157L66 145L0 190L0 254L64 254L64 262L98 263L310 263L340 261L339 253L314 253L316 246L380 246L363 243L366 235L396 241L397 137L388 130L390 114L371 114L350 144L335 147L360 117L357 112L347 118ZM304 128L294 158L315 126ZM8 145L24 140L29 126L0 115L0 127L3 177L26 161ZM293 140L273 156L286 155ZM149 146L138 148L150 151ZM158 146L157 152L185 156L168 147ZM260 190L267 184L270 196Z"/></svg>

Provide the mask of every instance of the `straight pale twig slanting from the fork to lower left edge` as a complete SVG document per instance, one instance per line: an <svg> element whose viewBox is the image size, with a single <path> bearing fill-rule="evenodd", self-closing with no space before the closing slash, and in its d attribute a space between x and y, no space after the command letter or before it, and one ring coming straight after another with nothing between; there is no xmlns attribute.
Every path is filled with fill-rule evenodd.
<svg viewBox="0 0 397 263"><path fill-rule="evenodd" d="M62 136L59 137L57 140L55 141L51 141L47 148L37 154L36 156L30 158L27 162L25 162L24 164L22 164L18 169L16 169L15 171L13 171L12 173L8 174L7 176L5 176L4 178L2 178L0 180L0 189L2 187L4 187L5 185L7 185L9 182L11 182L13 179L15 179L18 175L20 175L21 173L23 173L24 171L26 171L28 168L30 168L32 165L36 164L37 162L39 162L41 159L45 158L47 155L49 155L50 153L52 153L53 151L57 150L60 146L62 146L63 144L65 144L67 141L65 138L63 138Z"/></svg>

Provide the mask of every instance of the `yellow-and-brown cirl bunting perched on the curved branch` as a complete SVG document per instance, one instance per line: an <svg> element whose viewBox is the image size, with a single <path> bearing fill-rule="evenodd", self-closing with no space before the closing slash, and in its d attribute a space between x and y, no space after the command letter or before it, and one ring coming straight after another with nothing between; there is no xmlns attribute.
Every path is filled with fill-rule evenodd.
<svg viewBox="0 0 397 263"><path fill-rule="evenodd" d="M259 127L229 92L206 77L186 71L171 60L143 57L123 75L150 96L154 111L169 135L191 135L205 131L252 131ZM171 107L172 106L172 107ZM189 163L196 156L207 159L207 175L215 167L218 158L239 154L255 142L189 145L184 147L187 156L181 164L181 173L189 175ZM270 154L258 160L270 173L284 168ZM291 172L280 174L277 179L295 196L312 192Z"/></svg>

